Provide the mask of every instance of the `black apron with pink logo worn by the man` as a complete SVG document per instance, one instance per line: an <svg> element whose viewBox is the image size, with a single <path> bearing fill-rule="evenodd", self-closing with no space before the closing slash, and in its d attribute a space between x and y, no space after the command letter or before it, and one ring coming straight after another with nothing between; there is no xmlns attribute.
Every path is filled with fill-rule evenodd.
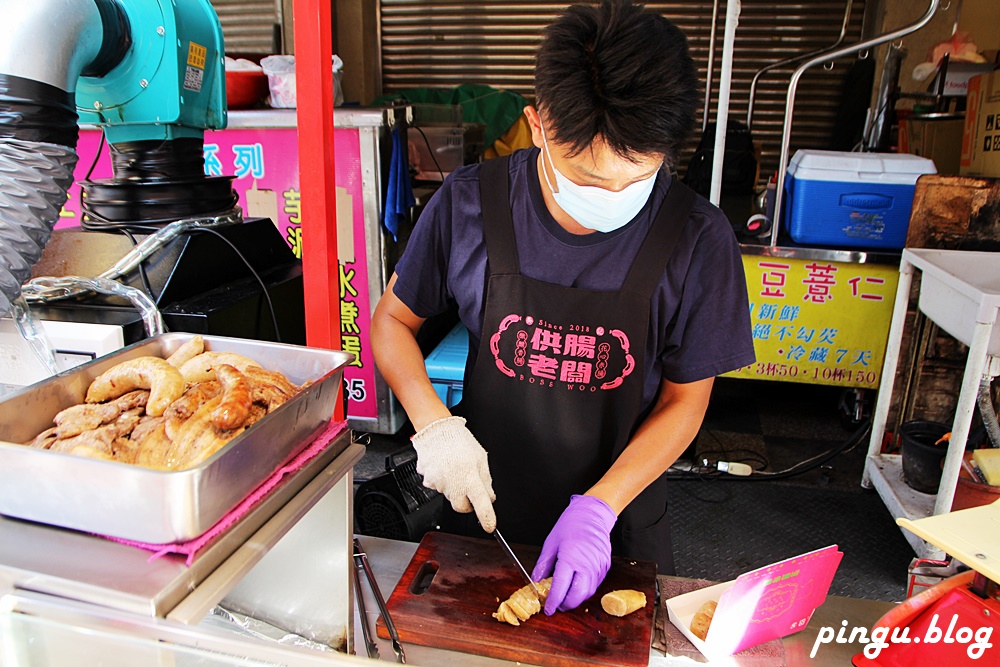
<svg viewBox="0 0 1000 667"><path fill-rule="evenodd" d="M486 312L459 411L489 452L497 525L510 542L541 545L570 496L607 472L645 416L649 304L695 197L673 180L620 290L562 287L520 273L508 162L482 167ZM666 510L661 477L622 512L614 553L673 573ZM449 508L443 526L482 535L473 516Z"/></svg>

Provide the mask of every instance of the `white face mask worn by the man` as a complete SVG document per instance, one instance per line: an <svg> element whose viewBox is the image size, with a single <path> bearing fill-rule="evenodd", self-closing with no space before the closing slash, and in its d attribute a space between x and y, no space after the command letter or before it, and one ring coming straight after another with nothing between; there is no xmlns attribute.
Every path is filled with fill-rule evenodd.
<svg viewBox="0 0 1000 667"><path fill-rule="evenodd" d="M542 143L552 165L552 172L556 175L556 185L559 191L556 192L549 181L548 172L542 166L542 175L545 177L545 184L549 186L552 196L555 198L559 208L580 223L587 229L597 232L613 232L631 222L632 218L638 215L642 207L649 200L650 193L653 192L653 185L656 184L656 174L641 181L636 181L626 188L613 192L594 185L577 185L569 180L556 169L552 162L552 153L549 152L549 142L545 137L545 126L542 128Z"/></svg>

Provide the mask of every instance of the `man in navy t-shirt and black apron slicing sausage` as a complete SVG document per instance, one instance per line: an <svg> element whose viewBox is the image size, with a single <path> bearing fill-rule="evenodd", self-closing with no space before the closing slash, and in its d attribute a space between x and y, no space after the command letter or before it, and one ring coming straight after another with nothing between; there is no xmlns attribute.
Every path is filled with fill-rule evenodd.
<svg viewBox="0 0 1000 667"><path fill-rule="evenodd" d="M567 9L536 58L535 148L445 181L373 316L424 483L482 530L542 545L548 614L593 595L613 552L672 572L662 475L714 377L754 358L731 228L670 176L696 87L665 18L627 0ZM415 339L451 305L470 333L463 416Z"/></svg>

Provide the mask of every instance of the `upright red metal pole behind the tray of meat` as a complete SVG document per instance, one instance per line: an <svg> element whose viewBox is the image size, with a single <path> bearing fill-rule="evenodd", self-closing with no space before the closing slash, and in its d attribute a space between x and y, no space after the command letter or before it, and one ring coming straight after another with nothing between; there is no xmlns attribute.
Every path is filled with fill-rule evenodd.
<svg viewBox="0 0 1000 667"><path fill-rule="evenodd" d="M340 349L331 0L295 0L295 84L306 344ZM344 419L337 402L335 419Z"/></svg>

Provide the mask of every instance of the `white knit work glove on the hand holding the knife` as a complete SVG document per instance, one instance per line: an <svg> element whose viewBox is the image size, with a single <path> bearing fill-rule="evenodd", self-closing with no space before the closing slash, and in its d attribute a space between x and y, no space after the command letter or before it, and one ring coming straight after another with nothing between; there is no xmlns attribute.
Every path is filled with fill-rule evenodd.
<svg viewBox="0 0 1000 667"><path fill-rule="evenodd" d="M475 511L483 530L492 533L497 527L493 478L486 450L465 427L465 419L433 421L420 429L412 442L424 486L444 494L456 512Z"/></svg>

